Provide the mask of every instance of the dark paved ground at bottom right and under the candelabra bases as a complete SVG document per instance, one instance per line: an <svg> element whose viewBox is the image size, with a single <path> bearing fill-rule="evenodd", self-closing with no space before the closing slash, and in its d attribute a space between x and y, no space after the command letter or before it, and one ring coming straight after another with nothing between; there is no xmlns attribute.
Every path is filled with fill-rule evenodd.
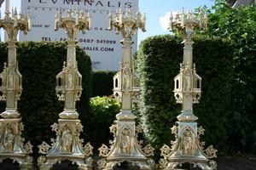
<svg viewBox="0 0 256 170"><path fill-rule="evenodd" d="M218 170L256 170L256 156L239 155L219 157L217 160ZM115 167L114 170L137 170L137 167ZM18 164L13 164L12 161L0 163L0 170L20 170ZM36 170L36 168L35 168ZM70 163L57 164L51 170L78 170L77 166Z"/></svg>

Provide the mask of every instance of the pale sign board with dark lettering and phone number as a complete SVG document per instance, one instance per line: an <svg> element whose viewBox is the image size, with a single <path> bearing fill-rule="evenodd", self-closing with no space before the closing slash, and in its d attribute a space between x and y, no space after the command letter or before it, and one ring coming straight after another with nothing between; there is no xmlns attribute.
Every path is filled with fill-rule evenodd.
<svg viewBox="0 0 256 170"><path fill-rule="evenodd" d="M85 35L79 32L78 42L90 55L92 67L96 70L117 71L122 59L123 37L115 31L108 31L108 13L119 7L131 8L135 14L138 0L22 0L21 11L31 14L32 31L25 36L20 33L20 41L66 41L65 30L54 31L56 9L64 13L69 8L90 11L91 30ZM133 37L132 53L137 50L137 35Z"/></svg>

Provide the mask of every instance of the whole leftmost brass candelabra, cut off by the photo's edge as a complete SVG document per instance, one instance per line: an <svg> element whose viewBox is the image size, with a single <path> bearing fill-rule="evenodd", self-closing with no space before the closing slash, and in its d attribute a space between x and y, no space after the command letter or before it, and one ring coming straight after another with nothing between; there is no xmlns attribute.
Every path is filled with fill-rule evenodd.
<svg viewBox="0 0 256 170"><path fill-rule="evenodd" d="M6 109L0 114L0 161L10 158L20 164L20 169L32 169L32 144L23 144L21 138L23 124L20 113L17 111L17 102L22 91L22 77L16 59L16 37L19 31L25 34L30 31L29 14L11 15L6 11L4 19L0 19L0 27L8 35L8 63L4 63L3 72L0 73L0 100L6 101Z"/></svg>

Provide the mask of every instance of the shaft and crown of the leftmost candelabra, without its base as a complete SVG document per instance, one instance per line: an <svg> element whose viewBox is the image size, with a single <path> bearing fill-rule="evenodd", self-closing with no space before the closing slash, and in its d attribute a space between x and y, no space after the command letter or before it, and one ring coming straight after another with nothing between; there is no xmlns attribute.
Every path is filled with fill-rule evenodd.
<svg viewBox="0 0 256 170"><path fill-rule="evenodd" d="M17 65L16 59L16 38L19 31L30 31L30 16L24 14L17 14L15 9L14 14L6 11L4 19L0 19L0 27L8 35L8 63L4 64L1 78L1 96L0 100L6 100L6 111L1 116L4 118L17 118L20 114L17 112L17 101L21 94L21 75Z"/></svg>

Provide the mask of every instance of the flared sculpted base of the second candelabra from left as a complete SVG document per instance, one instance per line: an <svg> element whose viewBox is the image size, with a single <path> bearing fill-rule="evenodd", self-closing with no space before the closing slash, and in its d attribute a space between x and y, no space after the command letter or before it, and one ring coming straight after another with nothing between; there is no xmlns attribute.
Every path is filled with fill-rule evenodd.
<svg viewBox="0 0 256 170"><path fill-rule="evenodd" d="M59 119L58 124L52 126L56 132L56 139L52 146L43 142L39 145L39 152L45 156L38 157L38 167L40 170L49 170L55 163L61 161L72 161L81 170L92 169L92 146L82 145L79 133L83 127L79 119Z"/></svg>

